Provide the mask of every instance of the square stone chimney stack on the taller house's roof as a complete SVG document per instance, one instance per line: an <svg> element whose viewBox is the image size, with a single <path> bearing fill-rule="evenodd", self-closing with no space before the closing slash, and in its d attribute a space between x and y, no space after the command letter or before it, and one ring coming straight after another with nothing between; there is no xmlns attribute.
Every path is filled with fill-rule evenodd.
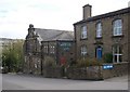
<svg viewBox="0 0 130 92"><path fill-rule="evenodd" d="M91 17L91 8L92 8L92 5L90 5L90 4L86 4L83 6L83 19Z"/></svg>

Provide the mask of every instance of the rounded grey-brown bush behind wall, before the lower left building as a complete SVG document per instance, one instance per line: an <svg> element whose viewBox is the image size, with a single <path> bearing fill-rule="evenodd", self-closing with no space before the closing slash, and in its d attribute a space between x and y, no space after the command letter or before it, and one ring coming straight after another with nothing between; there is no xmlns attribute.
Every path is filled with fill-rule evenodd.
<svg viewBox="0 0 130 92"><path fill-rule="evenodd" d="M51 56L46 56L44 57L44 66L56 66L56 62L53 57Z"/></svg>

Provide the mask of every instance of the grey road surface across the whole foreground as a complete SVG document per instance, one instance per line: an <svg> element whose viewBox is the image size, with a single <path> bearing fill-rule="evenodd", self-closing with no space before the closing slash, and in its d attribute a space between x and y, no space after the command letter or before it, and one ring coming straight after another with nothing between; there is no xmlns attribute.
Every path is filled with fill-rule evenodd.
<svg viewBox="0 0 130 92"><path fill-rule="evenodd" d="M128 90L128 76L92 81L3 74L2 90Z"/></svg>

